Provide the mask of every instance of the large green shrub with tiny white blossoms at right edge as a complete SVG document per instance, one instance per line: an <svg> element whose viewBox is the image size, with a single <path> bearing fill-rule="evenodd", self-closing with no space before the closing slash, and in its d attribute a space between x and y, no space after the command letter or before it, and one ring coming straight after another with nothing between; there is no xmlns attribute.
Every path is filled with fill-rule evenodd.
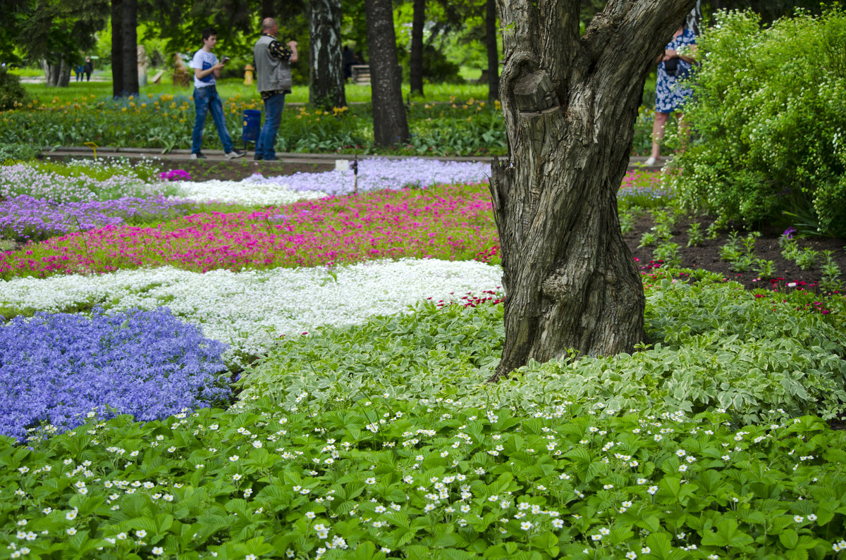
<svg viewBox="0 0 846 560"><path fill-rule="evenodd" d="M815 233L846 235L846 14L798 12L763 30L750 12L717 19L685 111L699 140L667 180L720 225L807 207Z"/></svg>

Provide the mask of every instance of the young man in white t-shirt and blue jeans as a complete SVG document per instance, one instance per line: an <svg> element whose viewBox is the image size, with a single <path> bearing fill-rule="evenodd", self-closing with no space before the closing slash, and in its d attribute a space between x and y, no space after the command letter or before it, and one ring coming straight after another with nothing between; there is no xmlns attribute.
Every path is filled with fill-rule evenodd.
<svg viewBox="0 0 846 560"><path fill-rule="evenodd" d="M211 112L211 119L217 128L217 135L226 152L227 159L244 155L243 151L235 150L232 145L232 138L226 129L226 118L223 115L223 104L220 96L217 95L216 78L227 63L228 58L217 62L217 57L211 49L217 44L217 30L206 27L203 30L203 47L195 52L191 61L191 68L194 69L194 137L191 141L190 159L205 159L206 156L200 151L203 142L203 127L206 125L206 113Z"/></svg>

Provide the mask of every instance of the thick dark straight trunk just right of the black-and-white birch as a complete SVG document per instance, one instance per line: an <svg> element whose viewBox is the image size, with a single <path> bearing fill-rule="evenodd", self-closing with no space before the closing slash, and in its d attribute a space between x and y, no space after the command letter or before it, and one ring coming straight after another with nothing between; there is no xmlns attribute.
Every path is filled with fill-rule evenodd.
<svg viewBox="0 0 846 560"><path fill-rule="evenodd" d="M402 80L393 32L391 0L365 0L367 50L370 52L373 100L373 138L377 145L409 140Z"/></svg>

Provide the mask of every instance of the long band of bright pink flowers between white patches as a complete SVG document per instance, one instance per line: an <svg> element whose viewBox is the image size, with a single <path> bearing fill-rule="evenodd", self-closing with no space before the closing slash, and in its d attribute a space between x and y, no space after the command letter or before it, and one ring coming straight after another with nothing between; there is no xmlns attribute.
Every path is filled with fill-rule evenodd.
<svg viewBox="0 0 846 560"><path fill-rule="evenodd" d="M472 259L496 244L486 185L440 185L72 233L0 256L0 278L179 266L206 272L404 257Z"/></svg>

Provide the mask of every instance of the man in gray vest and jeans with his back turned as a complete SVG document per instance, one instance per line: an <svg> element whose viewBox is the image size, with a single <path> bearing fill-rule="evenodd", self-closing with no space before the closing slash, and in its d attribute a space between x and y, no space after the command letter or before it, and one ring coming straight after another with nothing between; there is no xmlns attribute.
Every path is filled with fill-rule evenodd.
<svg viewBox="0 0 846 560"><path fill-rule="evenodd" d="M282 122L285 95L291 92L291 66L297 62L297 41L287 45L276 40L279 26L273 18L261 21L261 37L255 41L255 82L265 105L265 124L255 142L256 160L276 159L276 134Z"/></svg>

